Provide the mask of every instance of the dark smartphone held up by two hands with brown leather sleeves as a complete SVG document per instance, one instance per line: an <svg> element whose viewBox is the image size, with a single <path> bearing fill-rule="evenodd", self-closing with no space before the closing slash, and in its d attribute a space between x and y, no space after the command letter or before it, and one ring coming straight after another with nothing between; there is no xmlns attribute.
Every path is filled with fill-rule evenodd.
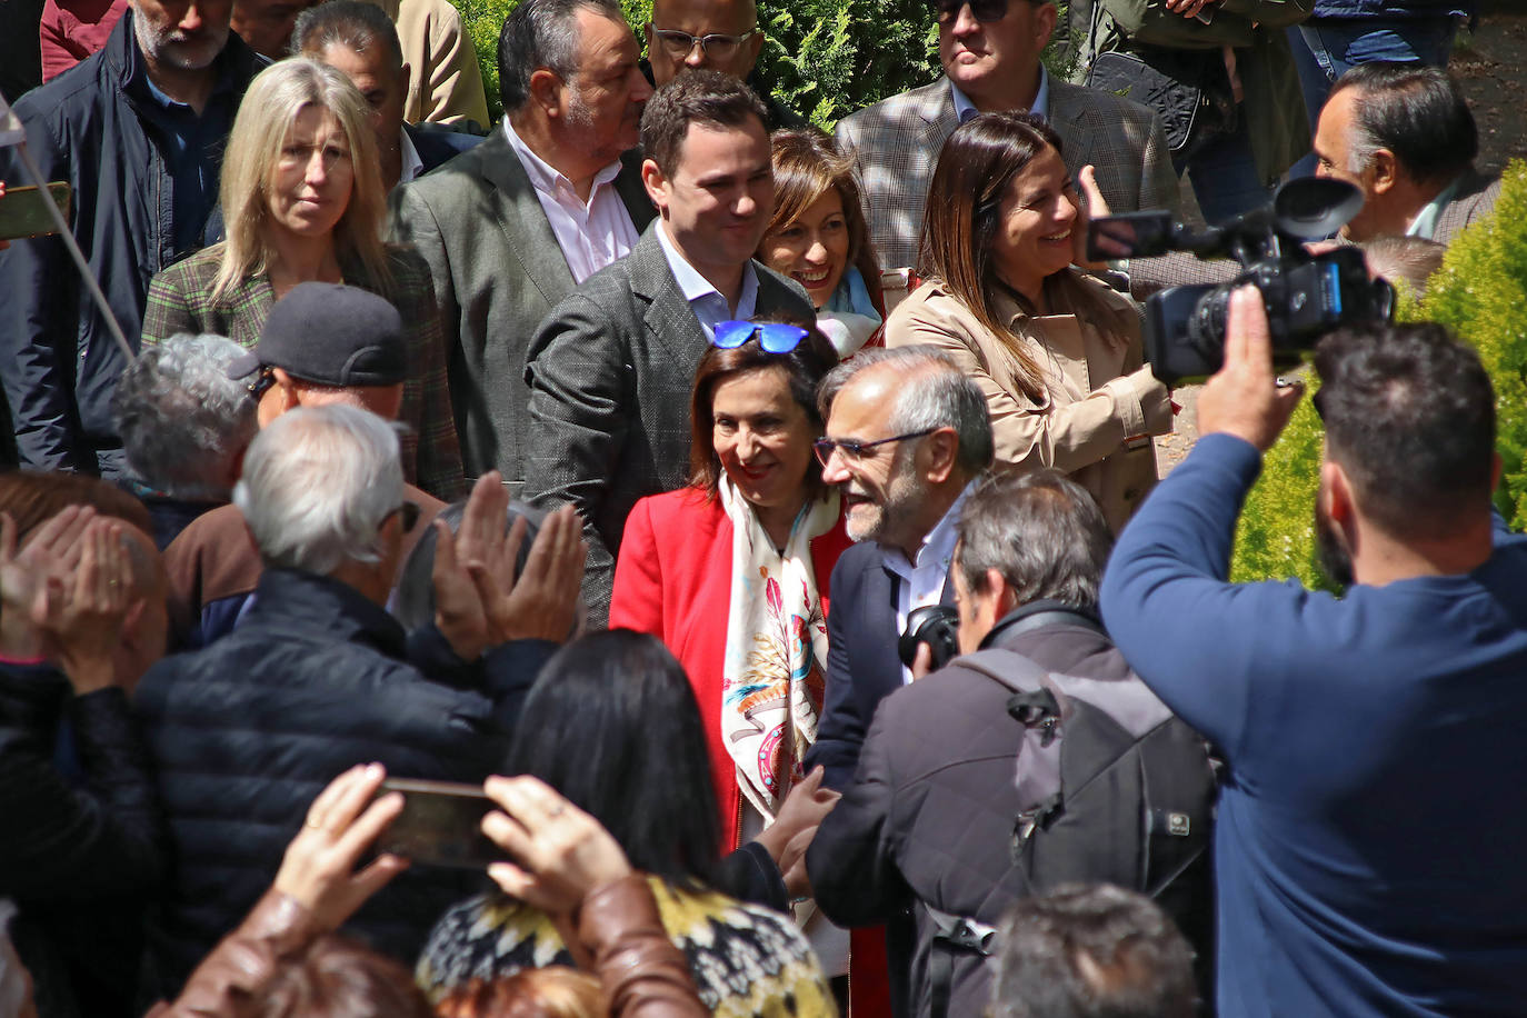
<svg viewBox="0 0 1527 1018"><path fill-rule="evenodd" d="M483 833L483 817L498 806L481 784L386 778L377 797L402 792L403 812L377 839L377 852L400 855L417 865L486 870L512 862Z"/></svg>

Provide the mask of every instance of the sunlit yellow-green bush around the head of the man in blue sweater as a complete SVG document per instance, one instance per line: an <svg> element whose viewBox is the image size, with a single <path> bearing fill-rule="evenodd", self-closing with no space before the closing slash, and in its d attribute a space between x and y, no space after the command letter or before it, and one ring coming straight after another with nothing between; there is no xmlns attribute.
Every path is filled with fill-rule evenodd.
<svg viewBox="0 0 1527 1018"><path fill-rule="evenodd" d="M1458 234L1425 299L1402 295L1396 317L1434 321L1474 343L1495 385L1496 449L1503 459L1496 504L1513 528L1527 528L1527 163L1506 171L1495 214ZM1313 392L1313 386L1312 386ZM1328 588L1315 565L1315 493L1322 430L1309 397L1267 453L1246 498L1231 578L1298 577Z"/></svg>

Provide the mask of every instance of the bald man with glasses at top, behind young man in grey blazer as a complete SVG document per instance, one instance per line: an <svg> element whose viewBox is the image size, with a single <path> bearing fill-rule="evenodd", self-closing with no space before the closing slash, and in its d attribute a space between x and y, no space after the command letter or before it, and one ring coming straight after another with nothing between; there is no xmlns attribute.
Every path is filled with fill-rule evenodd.
<svg viewBox="0 0 1527 1018"><path fill-rule="evenodd" d="M756 0L654 0L647 21L647 72L663 87L686 69L709 67L747 82L764 101L764 127L802 127L754 73L764 32Z"/></svg>

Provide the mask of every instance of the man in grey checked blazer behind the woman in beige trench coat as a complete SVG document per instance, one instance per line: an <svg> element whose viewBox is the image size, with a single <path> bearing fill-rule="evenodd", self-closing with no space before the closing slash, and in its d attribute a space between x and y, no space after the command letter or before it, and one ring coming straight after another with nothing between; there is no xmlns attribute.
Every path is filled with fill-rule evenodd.
<svg viewBox="0 0 1527 1018"><path fill-rule="evenodd" d="M1106 92L1051 78L1040 52L1055 27L1049 0L936 0L939 63L931 85L892 96L838 122L858 159L870 240L884 269L918 264L922 209L944 140L964 121L1031 110L1060 134L1072 177L1092 163L1113 212L1182 208L1161 119Z"/></svg>

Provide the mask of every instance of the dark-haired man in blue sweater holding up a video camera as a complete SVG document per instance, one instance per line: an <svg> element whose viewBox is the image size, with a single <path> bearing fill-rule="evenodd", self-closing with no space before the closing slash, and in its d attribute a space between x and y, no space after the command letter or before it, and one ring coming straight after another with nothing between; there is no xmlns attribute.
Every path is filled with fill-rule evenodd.
<svg viewBox="0 0 1527 1018"><path fill-rule="evenodd" d="M1102 615L1229 763L1219 1013L1518 1013L1527 1000L1527 542L1492 516L1495 398L1438 325L1327 337L1318 525L1345 597L1231 585L1298 400L1255 290L1202 438L1119 537Z"/></svg>

